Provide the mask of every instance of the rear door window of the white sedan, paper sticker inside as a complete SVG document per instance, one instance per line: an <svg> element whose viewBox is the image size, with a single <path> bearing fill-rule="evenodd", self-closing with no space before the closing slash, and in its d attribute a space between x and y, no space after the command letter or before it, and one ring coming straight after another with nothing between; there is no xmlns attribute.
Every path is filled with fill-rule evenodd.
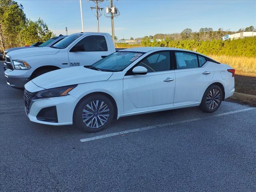
<svg viewBox="0 0 256 192"><path fill-rule="evenodd" d="M177 69L197 68L197 55L187 52L175 52Z"/></svg>

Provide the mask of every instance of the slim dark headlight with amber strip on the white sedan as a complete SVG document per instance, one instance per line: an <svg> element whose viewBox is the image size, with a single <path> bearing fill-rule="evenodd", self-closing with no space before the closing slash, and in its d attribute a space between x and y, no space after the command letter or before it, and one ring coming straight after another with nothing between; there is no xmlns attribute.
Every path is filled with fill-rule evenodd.
<svg viewBox="0 0 256 192"><path fill-rule="evenodd" d="M70 86L64 86L64 87L42 90L42 91L37 92L32 97L32 100L66 96L66 95L69 95L68 92L70 92L76 86L77 85L70 85Z"/></svg>

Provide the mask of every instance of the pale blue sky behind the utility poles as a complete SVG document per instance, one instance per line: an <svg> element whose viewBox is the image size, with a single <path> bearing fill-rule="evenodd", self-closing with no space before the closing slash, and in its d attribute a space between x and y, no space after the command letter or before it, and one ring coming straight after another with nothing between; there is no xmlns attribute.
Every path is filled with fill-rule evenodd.
<svg viewBox="0 0 256 192"><path fill-rule="evenodd" d="M82 31L79 0L16 0L22 4L27 18L43 19L54 34ZM237 31L240 28L256 28L256 0L114 0L120 16L114 18L115 36L118 39L138 38L157 33L180 33L186 28L223 28ZM96 32L95 3L82 0L85 32ZM100 7L110 6L110 1ZM109 16L109 14L108 14ZM111 19L99 18L100 32L111 34Z"/></svg>

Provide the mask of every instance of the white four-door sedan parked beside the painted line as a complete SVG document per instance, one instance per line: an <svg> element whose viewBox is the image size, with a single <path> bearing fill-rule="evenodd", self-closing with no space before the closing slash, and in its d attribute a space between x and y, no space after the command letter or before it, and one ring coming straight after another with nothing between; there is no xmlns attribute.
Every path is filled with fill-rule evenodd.
<svg viewBox="0 0 256 192"><path fill-rule="evenodd" d="M87 132L136 114L193 106L214 112L233 95L234 74L229 65L196 52L131 48L91 66L34 78L25 85L25 111L33 122L74 124Z"/></svg>

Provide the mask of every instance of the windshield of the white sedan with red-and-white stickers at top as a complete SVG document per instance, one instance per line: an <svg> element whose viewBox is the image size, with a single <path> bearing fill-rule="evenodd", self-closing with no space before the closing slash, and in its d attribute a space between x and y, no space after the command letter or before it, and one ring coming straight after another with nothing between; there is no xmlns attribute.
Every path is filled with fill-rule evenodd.
<svg viewBox="0 0 256 192"><path fill-rule="evenodd" d="M144 53L119 51L94 63L92 67L105 71L122 71Z"/></svg>

